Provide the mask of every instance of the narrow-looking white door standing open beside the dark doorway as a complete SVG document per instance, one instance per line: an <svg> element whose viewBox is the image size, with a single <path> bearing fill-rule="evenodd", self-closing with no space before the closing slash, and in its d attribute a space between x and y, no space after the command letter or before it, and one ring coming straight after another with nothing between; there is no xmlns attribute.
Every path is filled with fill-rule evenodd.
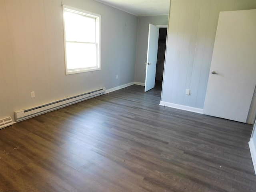
<svg viewBox="0 0 256 192"><path fill-rule="evenodd" d="M159 28L157 26L149 24L145 92L154 88L155 86L158 36Z"/></svg>

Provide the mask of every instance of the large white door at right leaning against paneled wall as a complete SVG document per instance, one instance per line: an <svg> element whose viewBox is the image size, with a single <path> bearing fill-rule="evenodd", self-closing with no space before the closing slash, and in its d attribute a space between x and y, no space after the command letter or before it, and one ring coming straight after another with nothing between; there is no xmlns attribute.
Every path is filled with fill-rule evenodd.
<svg viewBox="0 0 256 192"><path fill-rule="evenodd" d="M256 10L220 12L203 113L246 122L255 85Z"/></svg>

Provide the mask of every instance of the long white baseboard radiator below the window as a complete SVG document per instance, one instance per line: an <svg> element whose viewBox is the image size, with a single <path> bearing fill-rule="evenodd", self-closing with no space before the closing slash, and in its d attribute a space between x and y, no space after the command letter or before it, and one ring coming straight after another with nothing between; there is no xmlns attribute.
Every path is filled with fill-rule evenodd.
<svg viewBox="0 0 256 192"><path fill-rule="evenodd" d="M84 100L87 100L90 98L94 98L96 96L103 95L103 94L105 94L105 91L106 91L106 88L101 88L98 90L86 92L84 94L80 94L80 95L73 96L70 98L65 98L62 100L58 100L55 102L37 106L34 108L20 110L20 111L14 111L14 118L15 118L16 122L22 121L22 120L32 118L34 116L38 116L38 115L68 106L68 105L72 105L72 104L75 104L75 103L78 103L78 102L81 102L81 101L84 101Z"/></svg>

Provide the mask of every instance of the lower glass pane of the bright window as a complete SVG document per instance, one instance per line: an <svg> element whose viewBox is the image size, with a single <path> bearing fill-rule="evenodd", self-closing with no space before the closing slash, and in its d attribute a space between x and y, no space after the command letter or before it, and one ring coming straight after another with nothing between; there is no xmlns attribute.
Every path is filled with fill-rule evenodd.
<svg viewBox="0 0 256 192"><path fill-rule="evenodd" d="M97 66L96 44L66 42L67 68L90 68Z"/></svg>

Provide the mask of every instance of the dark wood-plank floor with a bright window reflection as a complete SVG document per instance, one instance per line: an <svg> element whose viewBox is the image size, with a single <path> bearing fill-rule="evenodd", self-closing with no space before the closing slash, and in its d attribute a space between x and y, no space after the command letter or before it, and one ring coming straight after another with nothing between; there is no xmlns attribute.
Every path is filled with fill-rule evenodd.
<svg viewBox="0 0 256 192"><path fill-rule="evenodd" d="M255 192L252 126L130 86L0 130L0 191Z"/></svg>

